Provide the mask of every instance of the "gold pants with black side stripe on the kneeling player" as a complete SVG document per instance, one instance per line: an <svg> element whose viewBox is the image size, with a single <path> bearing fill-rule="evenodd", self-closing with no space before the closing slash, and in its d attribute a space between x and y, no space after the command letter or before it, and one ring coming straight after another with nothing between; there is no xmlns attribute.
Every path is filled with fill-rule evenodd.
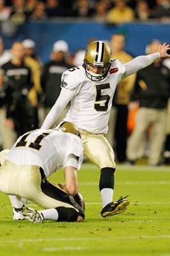
<svg viewBox="0 0 170 256"><path fill-rule="evenodd" d="M43 192L45 186L48 187L50 193ZM69 198L62 189L42 179L39 166L36 165L14 164L5 161L0 167L0 191L8 195L27 198L44 209L56 207L75 209L69 204ZM56 194L58 195L53 196Z"/></svg>

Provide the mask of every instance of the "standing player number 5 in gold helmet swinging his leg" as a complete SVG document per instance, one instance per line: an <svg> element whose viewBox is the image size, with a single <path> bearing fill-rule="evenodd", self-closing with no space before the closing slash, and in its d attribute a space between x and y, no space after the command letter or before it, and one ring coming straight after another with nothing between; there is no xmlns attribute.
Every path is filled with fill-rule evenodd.
<svg viewBox="0 0 170 256"><path fill-rule="evenodd" d="M49 129L62 109L71 100L71 108L64 121L72 122L81 133L85 155L101 170L101 191L104 218L124 212L129 200L120 197L113 202L115 156L104 137L108 131L111 103L120 80L145 68L158 58L170 57L169 45L162 44L154 54L138 56L122 65L111 59L111 50L102 41L92 42L85 51L83 65L71 68L62 74L61 92L41 129Z"/></svg>

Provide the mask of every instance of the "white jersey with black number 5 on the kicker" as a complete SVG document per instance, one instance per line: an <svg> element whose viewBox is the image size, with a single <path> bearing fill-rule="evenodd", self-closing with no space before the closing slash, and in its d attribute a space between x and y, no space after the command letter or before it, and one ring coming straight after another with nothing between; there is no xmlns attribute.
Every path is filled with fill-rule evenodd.
<svg viewBox="0 0 170 256"><path fill-rule="evenodd" d="M106 134L113 95L124 72L118 60L111 60L108 76L99 82L91 81L82 66L64 72L61 87L73 93L64 121L93 134Z"/></svg>

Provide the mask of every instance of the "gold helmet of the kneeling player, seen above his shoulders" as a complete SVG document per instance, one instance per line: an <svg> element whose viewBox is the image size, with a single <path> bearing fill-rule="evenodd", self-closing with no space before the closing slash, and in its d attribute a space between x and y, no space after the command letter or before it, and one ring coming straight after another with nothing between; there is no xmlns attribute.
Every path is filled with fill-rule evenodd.
<svg viewBox="0 0 170 256"><path fill-rule="evenodd" d="M78 128L76 127L76 125L74 125L71 122L62 121L59 124L57 124L56 129L62 132L69 132L80 137L80 131L78 131Z"/></svg>

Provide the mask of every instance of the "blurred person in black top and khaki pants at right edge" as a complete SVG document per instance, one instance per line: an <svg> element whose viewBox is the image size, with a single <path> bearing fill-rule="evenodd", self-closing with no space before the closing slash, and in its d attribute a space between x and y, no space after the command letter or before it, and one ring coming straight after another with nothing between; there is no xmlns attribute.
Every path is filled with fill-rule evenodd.
<svg viewBox="0 0 170 256"><path fill-rule="evenodd" d="M152 54L159 48L159 40L146 46L146 53ZM139 102L136 125L127 145L127 157L134 164L144 156L145 147L139 150L143 141L148 140L148 163L159 166L166 138L167 102L170 97L170 70L158 59L139 70L131 94L131 101ZM138 104L138 103L137 103ZM145 145L145 144L144 144Z"/></svg>

